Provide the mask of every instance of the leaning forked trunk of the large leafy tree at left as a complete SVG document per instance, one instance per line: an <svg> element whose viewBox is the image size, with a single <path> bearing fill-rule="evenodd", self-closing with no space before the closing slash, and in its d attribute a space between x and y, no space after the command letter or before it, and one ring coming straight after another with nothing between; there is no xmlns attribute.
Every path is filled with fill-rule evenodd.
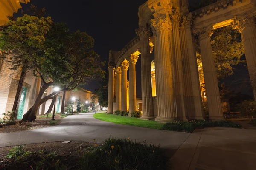
<svg viewBox="0 0 256 170"><path fill-rule="evenodd" d="M41 87L41 89L40 89L40 91L39 91L39 93L38 93L38 96L37 96L37 98L35 99L34 105L32 106L32 108L29 109L29 111L27 111L26 114L23 115L23 118L22 118L22 121L23 121L23 122L27 122L27 121L28 121L28 122L32 122L32 121L35 121L35 119L36 119L36 114L37 114L37 111L38 111L38 107L39 107L42 103L46 102L46 101L50 98L50 96L45 96L43 99L41 99L42 96L43 96L43 94L44 94L44 91L45 91L49 86L51 86L51 85L52 85L52 83L46 83L46 84L42 85L42 87ZM52 95L54 95L54 94L52 94ZM47 99L47 97L48 97L48 99Z"/></svg>

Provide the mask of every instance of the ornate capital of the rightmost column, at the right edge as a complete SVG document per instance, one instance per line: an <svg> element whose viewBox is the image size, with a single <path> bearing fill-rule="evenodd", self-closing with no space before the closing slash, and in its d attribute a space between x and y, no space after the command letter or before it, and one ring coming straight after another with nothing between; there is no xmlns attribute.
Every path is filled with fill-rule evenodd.
<svg viewBox="0 0 256 170"><path fill-rule="evenodd" d="M233 19L232 27L238 29L240 32L248 26L255 26L256 14L247 12L245 14L236 15Z"/></svg>

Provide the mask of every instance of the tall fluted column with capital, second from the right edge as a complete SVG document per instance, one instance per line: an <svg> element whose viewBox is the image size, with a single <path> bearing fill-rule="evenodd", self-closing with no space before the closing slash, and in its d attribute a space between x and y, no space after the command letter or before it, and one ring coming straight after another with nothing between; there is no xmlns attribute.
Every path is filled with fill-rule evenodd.
<svg viewBox="0 0 256 170"><path fill-rule="evenodd" d="M221 108L221 98L218 88L217 74L212 56L211 35L211 26L204 28L201 34L199 34L200 50L204 70L205 88L207 91L209 119L221 120L224 118Z"/></svg>

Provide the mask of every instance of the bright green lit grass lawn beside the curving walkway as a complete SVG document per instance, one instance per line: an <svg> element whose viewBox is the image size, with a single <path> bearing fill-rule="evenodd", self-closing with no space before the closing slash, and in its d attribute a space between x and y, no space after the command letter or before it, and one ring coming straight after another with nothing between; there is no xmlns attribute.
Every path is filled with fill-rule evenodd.
<svg viewBox="0 0 256 170"><path fill-rule="evenodd" d="M162 129L163 124L157 123L156 121L151 120L140 120L135 117L126 117L126 116L117 116L113 114L96 113L93 115L94 118L103 120L106 122L112 122L122 125L138 126L138 127L147 127L151 129Z"/></svg>

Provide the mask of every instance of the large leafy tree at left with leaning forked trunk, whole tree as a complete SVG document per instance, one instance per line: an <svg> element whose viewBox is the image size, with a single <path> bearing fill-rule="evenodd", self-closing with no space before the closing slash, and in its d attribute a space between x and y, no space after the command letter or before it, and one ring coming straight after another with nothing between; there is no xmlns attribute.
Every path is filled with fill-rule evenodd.
<svg viewBox="0 0 256 170"><path fill-rule="evenodd" d="M93 38L85 32L70 33L64 23L53 23L50 17L25 14L17 21L9 21L1 31L0 41L5 51L12 52L14 69L27 60L22 65L41 78L39 94L32 108L23 116L23 121L34 121L38 107L57 93L42 98L49 86L58 85L61 91L70 91L104 76L99 56L92 49ZM16 49L16 46L24 48Z"/></svg>

